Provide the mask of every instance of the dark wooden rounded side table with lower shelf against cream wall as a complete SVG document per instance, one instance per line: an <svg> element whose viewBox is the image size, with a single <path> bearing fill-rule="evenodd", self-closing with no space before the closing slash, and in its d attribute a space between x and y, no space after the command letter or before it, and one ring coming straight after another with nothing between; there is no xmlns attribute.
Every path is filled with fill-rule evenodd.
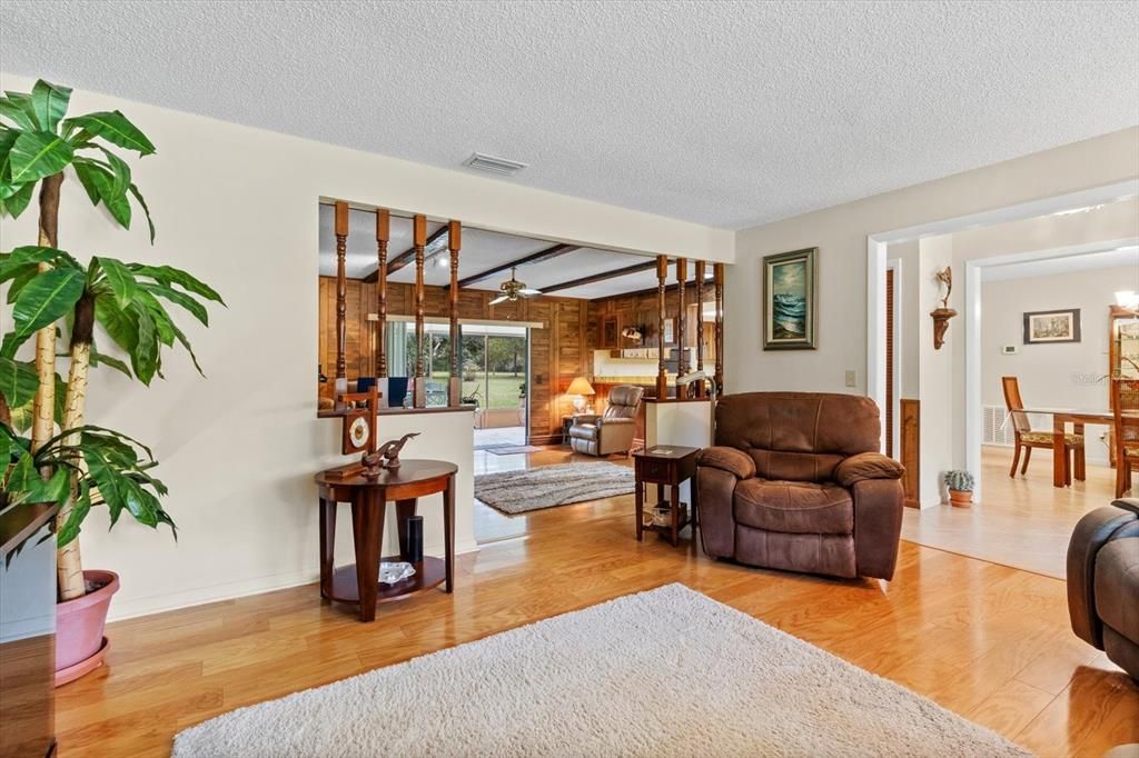
<svg viewBox="0 0 1139 758"><path fill-rule="evenodd" d="M446 461L405 460L396 471L384 471L376 479L362 473L344 476L339 469L321 471L314 479L320 497L320 596L345 603L359 603L360 620L376 619L376 603L400 600L445 584L451 592L454 579L454 475L459 470ZM404 560L407 519L416 512L418 499L443 493L443 560L424 555L415 563L413 576L393 585L379 584L380 561ZM380 558L384 520L388 501L395 502L395 522L400 555ZM352 541L357 562L334 567L336 546L336 504L352 504Z"/></svg>

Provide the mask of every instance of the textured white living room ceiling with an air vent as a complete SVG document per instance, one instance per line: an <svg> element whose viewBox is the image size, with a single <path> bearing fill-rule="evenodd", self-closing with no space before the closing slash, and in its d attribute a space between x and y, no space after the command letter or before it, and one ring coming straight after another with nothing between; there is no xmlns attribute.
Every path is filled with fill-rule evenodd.
<svg viewBox="0 0 1139 758"><path fill-rule="evenodd" d="M731 229L1139 123L1133 1L0 11L5 71Z"/></svg>

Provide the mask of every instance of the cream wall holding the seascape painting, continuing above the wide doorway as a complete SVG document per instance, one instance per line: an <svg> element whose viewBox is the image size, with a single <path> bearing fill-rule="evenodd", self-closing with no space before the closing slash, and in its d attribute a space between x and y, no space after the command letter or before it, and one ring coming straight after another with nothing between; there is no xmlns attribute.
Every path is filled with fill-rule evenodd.
<svg viewBox="0 0 1139 758"><path fill-rule="evenodd" d="M868 236L1136 178L1139 127L739 232L726 293L727 390L867 392ZM764 352L761 259L804 247L819 248L819 347ZM857 387L844 387L846 370Z"/></svg>

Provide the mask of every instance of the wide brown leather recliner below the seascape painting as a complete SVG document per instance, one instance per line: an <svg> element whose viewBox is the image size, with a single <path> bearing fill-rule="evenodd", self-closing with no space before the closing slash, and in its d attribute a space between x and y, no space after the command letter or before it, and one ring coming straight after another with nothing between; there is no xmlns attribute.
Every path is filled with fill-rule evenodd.
<svg viewBox="0 0 1139 758"><path fill-rule="evenodd" d="M715 446L697 458L704 552L839 577L894 576L904 469L878 452L868 397L746 393L720 398Z"/></svg>

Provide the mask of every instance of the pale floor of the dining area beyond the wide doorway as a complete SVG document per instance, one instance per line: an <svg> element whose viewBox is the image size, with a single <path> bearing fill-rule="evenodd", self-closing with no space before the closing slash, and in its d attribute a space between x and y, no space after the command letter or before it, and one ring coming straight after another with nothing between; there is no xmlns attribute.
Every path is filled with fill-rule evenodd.
<svg viewBox="0 0 1139 758"><path fill-rule="evenodd" d="M1085 481L1057 488L1048 456L1015 478L1008 476L1010 448L984 447L981 460L982 500L967 509L906 509L902 538L1063 579L1072 529L1115 500L1115 471L1089 464Z"/></svg>

